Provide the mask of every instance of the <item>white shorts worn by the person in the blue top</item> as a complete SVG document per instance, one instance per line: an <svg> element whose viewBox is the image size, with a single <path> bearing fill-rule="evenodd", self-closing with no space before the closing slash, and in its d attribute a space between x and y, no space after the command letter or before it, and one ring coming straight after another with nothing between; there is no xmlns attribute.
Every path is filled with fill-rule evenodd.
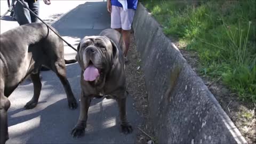
<svg viewBox="0 0 256 144"><path fill-rule="evenodd" d="M123 30L130 30L132 28L132 21L135 10L127 9L124 11L123 7L112 5L111 10L111 28L122 28Z"/></svg>

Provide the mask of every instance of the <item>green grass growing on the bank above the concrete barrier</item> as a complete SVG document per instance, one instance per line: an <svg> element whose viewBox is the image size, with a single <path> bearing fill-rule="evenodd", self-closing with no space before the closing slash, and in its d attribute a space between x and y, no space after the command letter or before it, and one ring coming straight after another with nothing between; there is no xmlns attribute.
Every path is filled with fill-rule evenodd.
<svg viewBox="0 0 256 144"><path fill-rule="evenodd" d="M141 1L163 32L196 51L201 75L256 102L256 1Z"/></svg>

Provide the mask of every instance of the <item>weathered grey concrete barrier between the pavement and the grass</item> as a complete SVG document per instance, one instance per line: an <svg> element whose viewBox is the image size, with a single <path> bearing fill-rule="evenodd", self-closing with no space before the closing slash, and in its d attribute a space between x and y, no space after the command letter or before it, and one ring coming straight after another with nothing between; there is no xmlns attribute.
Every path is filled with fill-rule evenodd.
<svg viewBox="0 0 256 144"><path fill-rule="evenodd" d="M159 143L246 143L234 123L143 5L133 22Z"/></svg>

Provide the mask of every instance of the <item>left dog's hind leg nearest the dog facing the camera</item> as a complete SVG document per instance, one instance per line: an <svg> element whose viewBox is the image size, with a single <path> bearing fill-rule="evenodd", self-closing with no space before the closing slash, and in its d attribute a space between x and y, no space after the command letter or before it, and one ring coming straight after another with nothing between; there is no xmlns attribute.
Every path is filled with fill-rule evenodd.
<svg viewBox="0 0 256 144"><path fill-rule="evenodd" d="M64 86L65 92L67 94L68 99L68 106L70 109L76 109L77 108L77 102L74 97L74 94L71 90L70 84L68 82L67 76L66 76L66 65L65 61L57 61L55 62L56 69L54 70L57 76L59 77L62 85Z"/></svg>

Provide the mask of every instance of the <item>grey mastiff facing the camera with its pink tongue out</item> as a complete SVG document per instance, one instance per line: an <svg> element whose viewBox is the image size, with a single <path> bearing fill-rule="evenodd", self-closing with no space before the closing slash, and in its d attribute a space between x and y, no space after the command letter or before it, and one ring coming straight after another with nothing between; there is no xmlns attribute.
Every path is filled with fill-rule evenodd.
<svg viewBox="0 0 256 144"><path fill-rule="evenodd" d="M126 119L126 82L121 34L105 29L99 36L84 37L77 47L76 60L81 66L81 109L78 122L71 132L73 137L85 133L88 109L93 98L115 99L119 107L121 128L131 133Z"/></svg>

